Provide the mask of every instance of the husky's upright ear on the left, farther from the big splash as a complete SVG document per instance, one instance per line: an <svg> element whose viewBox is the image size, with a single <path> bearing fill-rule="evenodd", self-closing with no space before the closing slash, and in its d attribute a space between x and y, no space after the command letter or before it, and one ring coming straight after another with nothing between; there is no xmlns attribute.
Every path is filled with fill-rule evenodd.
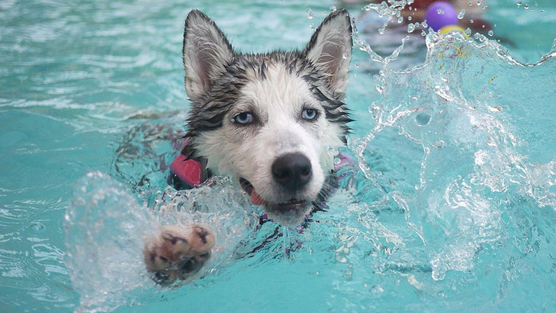
<svg viewBox="0 0 556 313"><path fill-rule="evenodd" d="M186 92L193 101L210 89L215 77L234 58L234 49L218 26L199 10L192 10L183 31Z"/></svg>

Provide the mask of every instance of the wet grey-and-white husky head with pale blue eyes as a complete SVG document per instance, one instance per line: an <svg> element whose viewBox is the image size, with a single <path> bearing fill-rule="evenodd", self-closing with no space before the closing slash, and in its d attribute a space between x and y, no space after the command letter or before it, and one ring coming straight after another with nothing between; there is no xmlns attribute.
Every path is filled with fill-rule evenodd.
<svg viewBox="0 0 556 313"><path fill-rule="evenodd" d="M197 10L183 34L188 137L207 167L238 180L268 215L295 226L327 189L351 121L343 103L352 53L346 10L303 51L238 53Z"/></svg>

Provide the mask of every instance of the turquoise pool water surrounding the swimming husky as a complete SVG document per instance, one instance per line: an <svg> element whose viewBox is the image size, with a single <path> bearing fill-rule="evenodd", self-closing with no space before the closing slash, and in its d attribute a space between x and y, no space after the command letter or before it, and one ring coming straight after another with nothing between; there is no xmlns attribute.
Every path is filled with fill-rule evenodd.
<svg viewBox="0 0 556 313"><path fill-rule="evenodd" d="M256 212L225 179L161 194L188 110L183 19L199 8L243 51L288 49L339 5L2 1L0 308L556 310L556 5L534 3L489 1L491 40L430 36L427 48L416 33L388 65L356 44L344 152L358 163L318 222L250 253L275 226L250 231ZM407 35L378 35L376 12L350 12L384 57ZM87 190L112 198L89 202ZM245 221L234 232L248 240L221 235L205 278L160 289L140 275L133 235L193 202L229 214L203 221ZM67 208L86 214L65 219ZM112 259L80 258L99 251Z"/></svg>

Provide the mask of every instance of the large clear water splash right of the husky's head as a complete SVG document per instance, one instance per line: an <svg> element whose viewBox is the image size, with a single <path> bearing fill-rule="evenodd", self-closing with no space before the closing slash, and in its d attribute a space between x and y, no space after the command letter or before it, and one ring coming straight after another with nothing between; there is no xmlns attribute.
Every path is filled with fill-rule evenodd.
<svg viewBox="0 0 556 313"><path fill-rule="evenodd" d="M397 128L422 146L416 191L382 190L404 210L423 242L432 278L442 280L448 271L473 269L479 251L507 243L502 209L512 206L508 193L554 210L556 160L550 151L556 149L556 124L543 115L556 109L556 85L545 80L556 62L551 53L535 65L521 64L480 34L466 40L459 33L430 33L426 40L427 60L420 67L394 71L379 60L382 99L369 108L375 125L348 144L375 185L366 158L379 133ZM543 85L543 91L531 85Z"/></svg>

